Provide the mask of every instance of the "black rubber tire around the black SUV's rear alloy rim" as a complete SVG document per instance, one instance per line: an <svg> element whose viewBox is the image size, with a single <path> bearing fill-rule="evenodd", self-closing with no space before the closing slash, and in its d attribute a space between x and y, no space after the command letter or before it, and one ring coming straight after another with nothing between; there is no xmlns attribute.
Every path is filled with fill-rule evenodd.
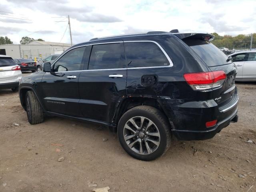
<svg viewBox="0 0 256 192"><path fill-rule="evenodd" d="M151 120L156 125L158 132L160 134L160 144L158 145L158 148L156 148L156 150L150 154L149 153L138 154L137 152L134 152L134 150L132 150L128 146L128 144L124 139L124 129L125 129L124 126L126 125L128 120L138 116L142 116L147 118L148 120ZM164 114L160 112L160 110L151 106L137 106L125 112L119 120L117 132L118 132L119 142L121 146L124 148L124 150L129 155L139 160L144 160L144 161L154 160L162 156L170 147L170 142L171 142L170 124L168 123L168 120L164 116ZM144 133L146 134L146 132ZM138 138L138 136L136 136L136 138ZM136 138L135 139L132 138L132 140L136 140ZM146 144L146 138L144 138L144 148L145 148L145 144Z"/></svg>

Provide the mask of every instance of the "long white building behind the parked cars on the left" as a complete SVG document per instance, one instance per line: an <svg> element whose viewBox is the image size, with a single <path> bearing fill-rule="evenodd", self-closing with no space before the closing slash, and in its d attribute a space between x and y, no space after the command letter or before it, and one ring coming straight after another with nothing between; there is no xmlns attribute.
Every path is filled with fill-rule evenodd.
<svg viewBox="0 0 256 192"><path fill-rule="evenodd" d="M56 43L47 41L32 41L26 45L6 44L0 45L0 54L8 55L12 58L45 58L52 54L61 54L68 48L68 43Z"/></svg>

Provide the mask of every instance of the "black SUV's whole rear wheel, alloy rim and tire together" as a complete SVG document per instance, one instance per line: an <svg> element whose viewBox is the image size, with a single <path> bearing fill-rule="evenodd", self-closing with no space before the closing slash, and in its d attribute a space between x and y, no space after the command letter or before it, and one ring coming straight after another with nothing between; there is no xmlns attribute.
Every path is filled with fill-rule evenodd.
<svg viewBox="0 0 256 192"><path fill-rule="evenodd" d="M128 154L140 160L154 160L170 146L170 125L151 106L128 110L118 123L118 138Z"/></svg>

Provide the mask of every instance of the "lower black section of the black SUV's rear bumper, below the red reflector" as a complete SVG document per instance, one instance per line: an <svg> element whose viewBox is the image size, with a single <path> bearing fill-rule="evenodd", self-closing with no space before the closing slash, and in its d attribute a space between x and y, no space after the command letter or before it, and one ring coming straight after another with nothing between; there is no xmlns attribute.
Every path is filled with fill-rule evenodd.
<svg viewBox="0 0 256 192"><path fill-rule="evenodd" d="M236 109L232 115L218 122L214 128L209 130L172 130L172 132L179 140L206 140L213 138L218 132L228 126L230 122L237 121L238 115Z"/></svg>

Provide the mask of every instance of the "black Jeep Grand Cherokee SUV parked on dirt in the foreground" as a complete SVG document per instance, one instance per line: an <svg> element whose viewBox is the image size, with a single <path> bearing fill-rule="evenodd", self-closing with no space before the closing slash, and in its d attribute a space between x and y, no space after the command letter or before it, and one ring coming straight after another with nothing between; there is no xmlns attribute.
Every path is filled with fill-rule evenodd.
<svg viewBox="0 0 256 192"><path fill-rule="evenodd" d="M237 122L236 66L214 36L148 32L94 38L23 77L30 124L44 116L96 122L117 131L131 156L153 160L171 135L204 140Z"/></svg>

